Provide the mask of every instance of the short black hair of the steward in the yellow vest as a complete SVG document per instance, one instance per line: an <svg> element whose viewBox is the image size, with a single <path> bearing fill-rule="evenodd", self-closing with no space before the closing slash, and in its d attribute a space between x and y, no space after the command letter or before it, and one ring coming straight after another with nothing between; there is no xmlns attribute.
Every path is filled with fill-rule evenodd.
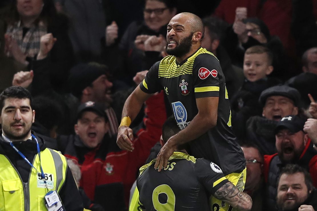
<svg viewBox="0 0 317 211"><path fill-rule="evenodd" d="M29 99L30 106L32 103L31 93L27 89L21 86L10 86L3 90L3 92L0 94L0 113L3 109L4 101L8 98Z"/></svg>

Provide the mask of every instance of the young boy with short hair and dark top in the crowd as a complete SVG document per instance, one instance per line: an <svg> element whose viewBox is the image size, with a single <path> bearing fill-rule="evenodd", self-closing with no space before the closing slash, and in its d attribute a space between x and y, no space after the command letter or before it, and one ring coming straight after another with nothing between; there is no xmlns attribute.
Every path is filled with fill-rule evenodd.
<svg viewBox="0 0 317 211"><path fill-rule="evenodd" d="M268 77L274 69L272 60L272 53L264 46L250 47L244 54L245 80L231 99L232 127L239 140L245 138L245 123L249 117L262 114L258 103L261 92L281 83L277 78Z"/></svg>

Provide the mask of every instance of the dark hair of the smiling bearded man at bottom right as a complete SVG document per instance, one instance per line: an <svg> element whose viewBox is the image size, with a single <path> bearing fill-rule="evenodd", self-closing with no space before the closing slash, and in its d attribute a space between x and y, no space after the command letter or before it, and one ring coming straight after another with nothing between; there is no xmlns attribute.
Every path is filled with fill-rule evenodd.
<svg viewBox="0 0 317 211"><path fill-rule="evenodd" d="M281 175L282 174L296 174L296 173L303 173L305 178L305 184L307 186L308 192L314 189L313 181L308 173L304 168L297 164L287 164L285 167L282 168L280 176L277 179L276 187L278 187L278 184L280 183Z"/></svg>

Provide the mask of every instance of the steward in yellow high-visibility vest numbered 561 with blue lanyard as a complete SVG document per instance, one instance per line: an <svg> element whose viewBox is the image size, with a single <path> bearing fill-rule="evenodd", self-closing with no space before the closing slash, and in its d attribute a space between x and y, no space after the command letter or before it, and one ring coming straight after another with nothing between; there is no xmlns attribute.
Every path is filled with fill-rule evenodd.
<svg viewBox="0 0 317 211"><path fill-rule="evenodd" d="M0 94L0 210L83 210L66 158L31 131L30 105L22 87Z"/></svg>

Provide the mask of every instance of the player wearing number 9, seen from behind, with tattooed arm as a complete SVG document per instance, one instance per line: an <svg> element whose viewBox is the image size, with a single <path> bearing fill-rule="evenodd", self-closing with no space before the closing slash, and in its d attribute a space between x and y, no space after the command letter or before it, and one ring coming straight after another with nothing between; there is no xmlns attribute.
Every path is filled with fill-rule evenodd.
<svg viewBox="0 0 317 211"><path fill-rule="evenodd" d="M163 142L179 130L174 117L168 118L162 128ZM208 211L208 197L214 195L238 210L251 209L251 197L229 182L219 166L204 158L196 159L182 148L186 146L178 146L173 152L164 171L153 168L155 159L140 168L137 188L141 208Z"/></svg>

